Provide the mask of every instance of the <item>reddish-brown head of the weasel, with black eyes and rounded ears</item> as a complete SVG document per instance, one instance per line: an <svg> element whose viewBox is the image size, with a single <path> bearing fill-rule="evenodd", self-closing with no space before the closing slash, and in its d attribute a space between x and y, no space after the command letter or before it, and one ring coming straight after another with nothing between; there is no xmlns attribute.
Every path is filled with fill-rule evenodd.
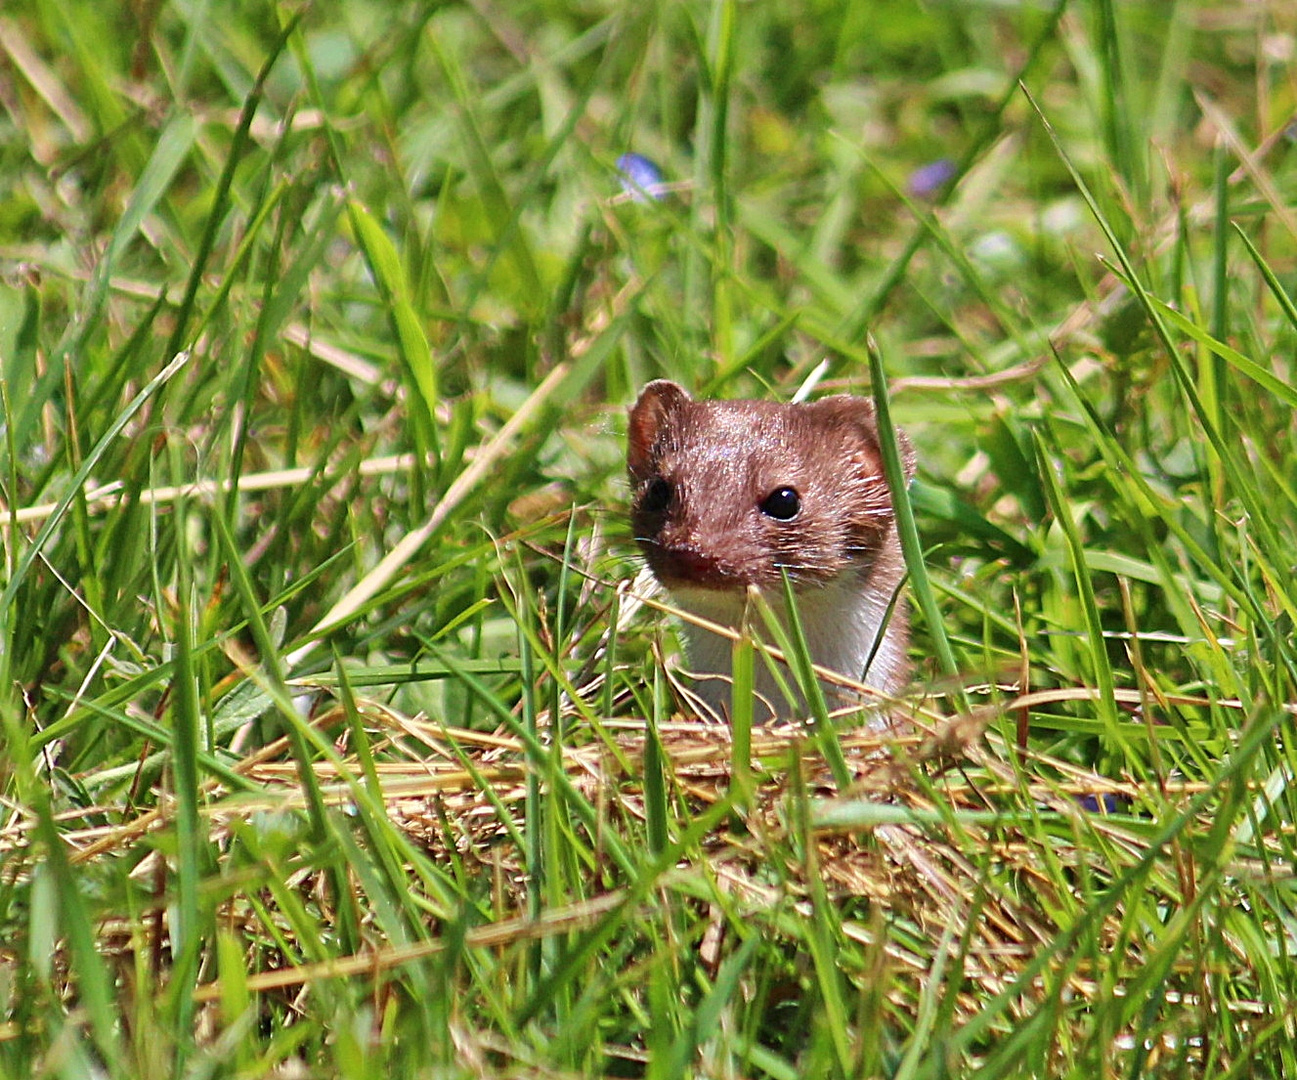
<svg viewBox="0 0 1297 1080"><path fill-rule="evenodd" d="M898 432L907 478L909 441ZM799 589L874 568L894 535L873 403L694 401L650 382L630 410L636 539L672 591ZM892 585L895 585L892 582Z"/></svg>

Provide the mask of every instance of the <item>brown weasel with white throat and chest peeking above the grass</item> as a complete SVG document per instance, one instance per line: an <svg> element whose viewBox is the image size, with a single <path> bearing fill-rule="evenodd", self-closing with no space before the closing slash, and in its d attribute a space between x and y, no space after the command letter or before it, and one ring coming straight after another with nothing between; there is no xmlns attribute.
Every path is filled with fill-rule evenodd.
<svg viewBox="0 0 1297 1080"><path fill-rule="evenodd" d="M681 609L738 626L755 586L782 620L786 572L811 659L887 694L903 688L909 628L896 594L905 560L873 402L694 401L660 379L641 392L628 430L636 541ZM909 480L914 452L896 438ZM691 666L721 677L698 683L720 714L732 643L694 626L685 634ZM755 666L757 692L787 713L765 663ZM840 691L824 686L830 707L840 704Z"/></svg>

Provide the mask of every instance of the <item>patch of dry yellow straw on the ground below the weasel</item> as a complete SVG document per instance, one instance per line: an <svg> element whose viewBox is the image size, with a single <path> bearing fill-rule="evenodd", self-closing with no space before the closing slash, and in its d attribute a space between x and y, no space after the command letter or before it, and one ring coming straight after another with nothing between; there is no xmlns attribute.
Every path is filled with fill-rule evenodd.
<svg viewBox="0 0 1297 1080"><path fill-rule="evenodd" d="M625 889L610 888L569 905L528 918L528 878L523 852L515 843L524 827L528 761L524 747L502 731L446 729L422 718L399 714L387 705L362 705L372 731L376 771L387 814L412 838L433 862L457 862L466 873L493 880L497 921L473 927L467 944L506 946L511 943L569 933L595 924L619 905L629 902ZM322 712L320 730L335 730L340 714ZM647 734L642 723L610 722L603 738L589 730L571 733L572 745L562 752L572 786L598 808L601 823L623 836L636 835L646 817L641 782ZM677 721L658 731L671 804L686 818L732 799L730 734L715 723ZM1165 889L1154 902L1179 905L1184 896L1183 865L1174 865L1174 849L1150 853L1147 831L1131 827L1130 817L1109 817L1083 809L1082 796L1117 796L1137 804L1144 792L1114 783L1058 761L1034 757L1010 768L1009 753L994 738L974 740L962 760L934 756L939 740L920 735L847 733L840 738L855 782L850 792L833 791L829 770L805 734L795 726L754 731L755 787L746 809L732 808L724 825L682 858L677 871L706 874L744 919L809 918L820 900L827 900L846 943L886 957L895 979L892 1005L916 1007L916 988L931 971L938 956L957 958L968 980L960 1011L971 1016L987 994L1012 987L1027 962L1058 940L1077 917L1080 887L1101 891L1121 873L1152 854L1157 863L1145 875L1144 889ZM326 801L346 810L353 800L358 761L348 756L340 736L342 771L329 762L315 765ZM236 771L253 781L258 795L231 795L209 786L206 814L211 840L226 851L236 823L246 825L258 813L294 812L305 806L297 765L284 742L244 758ZM1030 778L1025 778L1030 777ZM1182 788L1174 797L1193 792ZM1167 797L1169 792L1162 792ZM1022 801L1030 800L1029 810ZM158 805L123 823L106 825L119 810L91 808L65 814L65 838L74 861L122 856L152 834L167 827L171 803ZM503 817L502 817L503 816ZM1048 827L1041 826L1048 817ZM83 822L80 827L74 819ZM95 823L100 822L100 823ZM1070 840L1071 832L1075 840ZM22 821L0 831L0 847L25 844ZM1078 843L1084 838L1084 843ZM1096 839L1101 843L1096 843ZM601 852L598 836L588 838ZM154 851L135 874L156 875L160 895L166 870ZM18 861L10 861L16 866ZM232 871L237 873L237 871ZM597 875L595 875L597 876ZM669 875L668 875L669 876ZM667 882L664 880L664 884ZM320 875L301 871L285 886L315 905L326 905ZM411 888L419 887L411 875ZM651 906L645 898L641 909ZM696 901L700 910L706 900ZM428 957L441 949L437 939L414 944L376 944L353 957L305 962L309 950L288 956L276 941L292 941L289 921L276 913L270 898L246 897L235 889L224 902L223 923L237 928L248 948L249 989L289 991L318 978L379 972ZM706 915L715 923L702 948L716 950L725 937L725 917L711 905ZM514 911L516 914L508 914ZM1102 915L1089 933L1092 946L1137 952L1137 936L1123 931L1122 905ZM323 911L328 921L327 910ZM270 919L270 924L267 924ZM166 927L162 905L144 923L161 949ZM105 927L109 952L140 948L140 927L131 935ZM374 924L367 936L381 941ZM795 935L790 943L795 944ZM1080 997L1093 992L1095 980L1075 957L1060 954L1069 968L1070 991ZM1034 981L1035 991L1043 983ZM1019 988L1023 992L1026 988ZM219 994L219 984L198 991L202 998ZM1026 993L1023 1006L1035 993ZM1039 1004L1039 1002L1036 1002Z"/></svg>

